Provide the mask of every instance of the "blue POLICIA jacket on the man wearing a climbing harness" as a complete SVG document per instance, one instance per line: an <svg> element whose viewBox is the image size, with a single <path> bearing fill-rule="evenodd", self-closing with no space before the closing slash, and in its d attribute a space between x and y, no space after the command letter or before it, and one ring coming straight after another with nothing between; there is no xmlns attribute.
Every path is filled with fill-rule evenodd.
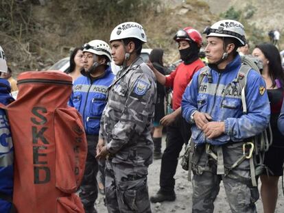
<svg viewBox="0 0 284 213"><path fill-rule="evenodd" d="M212 121L225 123L225 133L213 139L206 138L203 131L193 124L191 137L196 144L208 142L211 145L222 145L226 142L239 142L259 134L268 126L270 104L265 91L265 82L257 71L250 70L247 76L247 114L243 114L239 85L226 88L226 85L237 77L240 66L241 58L237 55L222 73L210 68L212 81L208 76L204 76L200 86L198 86L200 71L193 75L182 96L182 116L190 123L191 114L198 110L210 114Z"/></svg>

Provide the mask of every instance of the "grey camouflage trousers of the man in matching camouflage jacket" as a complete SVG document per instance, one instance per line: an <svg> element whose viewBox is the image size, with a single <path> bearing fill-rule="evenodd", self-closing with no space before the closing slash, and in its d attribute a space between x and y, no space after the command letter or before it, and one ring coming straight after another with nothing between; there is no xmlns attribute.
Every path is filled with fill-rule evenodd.
<svg viewBox="0 0 284 213"><path fill-rule="evenodd" d="M105 192L109 213L151 212L147 166L106 160Z"/></svg>

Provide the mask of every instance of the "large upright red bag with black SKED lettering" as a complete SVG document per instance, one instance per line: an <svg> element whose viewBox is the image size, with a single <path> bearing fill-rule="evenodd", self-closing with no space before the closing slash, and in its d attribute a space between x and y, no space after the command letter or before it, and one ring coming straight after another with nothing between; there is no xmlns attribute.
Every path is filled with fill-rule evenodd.
<svg viewBox="0 0 284 213"><path fill-rule="evenodd" d="M75 195L84 174L86 136L80 114L67 105L72 79L60 71L21 73L7 106L14 142L18 212L84 212Z"/></svg>

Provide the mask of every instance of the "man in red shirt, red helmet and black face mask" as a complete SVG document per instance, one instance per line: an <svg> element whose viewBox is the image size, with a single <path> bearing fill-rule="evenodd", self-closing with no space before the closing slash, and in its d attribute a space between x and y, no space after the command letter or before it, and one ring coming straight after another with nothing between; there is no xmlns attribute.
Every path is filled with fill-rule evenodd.
<svg viewBox="0 0 284 213"><path fill-rule="evenodd" d="M192 27L180 29L176 32L174 40L178 42L178 51L182 60L182 63L178 65L174 72L165 76L149 63L157 81L173 89L171 108L174 110L174 112L167 114L160 121L162 125L167 126L167 146L162 157L160 189L156 195L150 197L152 203L174 201L176 199L174 175L178 165L178 155L182 145L187 144L191 136L189 123L181 116L180 103L183 92L185 92L185 88L191 81L193 74L204 66L202 60L198 58L198 53L202 46L202 36L196 29Z"/></svg>

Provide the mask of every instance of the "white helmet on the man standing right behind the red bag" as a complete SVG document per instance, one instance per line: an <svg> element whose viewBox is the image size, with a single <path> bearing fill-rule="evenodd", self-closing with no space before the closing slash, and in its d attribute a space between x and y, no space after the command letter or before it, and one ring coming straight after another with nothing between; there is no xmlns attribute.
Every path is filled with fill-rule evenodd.
<svg viewBox="0 0 284 213"><path fill-rule="evenodd" d="M90 42L84 44L83 48L83 52L94 53L96 55L106 55L110 62L112 60L110 46L103 40L91 40Z"/></svg>

